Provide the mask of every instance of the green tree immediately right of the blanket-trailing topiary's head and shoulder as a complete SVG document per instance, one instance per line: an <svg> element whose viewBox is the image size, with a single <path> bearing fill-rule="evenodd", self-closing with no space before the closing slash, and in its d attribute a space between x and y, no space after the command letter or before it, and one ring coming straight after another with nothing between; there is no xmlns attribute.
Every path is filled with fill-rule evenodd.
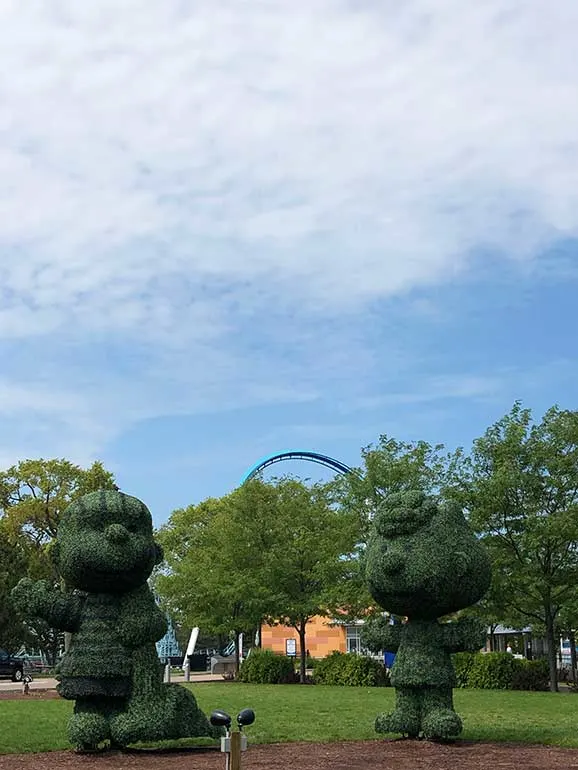
<svg viewBox="0 0 578 770"><path fill-rule="evenodd" d="M167 609L191 628L235 638L255 631L270 603L263 576L271 490L249 484L222 498L175 511L158 533L165 565L155 587Z"/></svg>

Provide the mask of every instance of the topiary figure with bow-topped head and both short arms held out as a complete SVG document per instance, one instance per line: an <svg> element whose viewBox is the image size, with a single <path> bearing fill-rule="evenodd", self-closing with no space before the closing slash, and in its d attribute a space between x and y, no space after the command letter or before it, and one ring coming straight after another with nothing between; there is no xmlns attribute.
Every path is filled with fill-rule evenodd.
<svg viewBox="0 0 578 770"><path fill-rule="evenodd" d="M411 738L451 739L462 730L453 709L455 672L450 654L479 650L483 624L438 618L474 604L490 585L488 556L455 505L438 506L421 492L390 495L377 511L366 578L385 610L407 622L368 622L364 643L397 653L391 672L396 708L375 729Z"/></svg>

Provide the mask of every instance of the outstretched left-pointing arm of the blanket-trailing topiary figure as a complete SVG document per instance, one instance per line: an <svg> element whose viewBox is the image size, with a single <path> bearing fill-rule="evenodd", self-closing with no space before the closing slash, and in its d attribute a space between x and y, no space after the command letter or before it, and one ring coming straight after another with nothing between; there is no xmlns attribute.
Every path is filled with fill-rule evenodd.
<svg viewBox="0 0 578 770"><path fill-rule="evenodd" d="M16 608L31 618L43 618L59 631L78 631L85 597L78 593L62 593L46 580L30 578L14 586L11 593Z"/></svg>

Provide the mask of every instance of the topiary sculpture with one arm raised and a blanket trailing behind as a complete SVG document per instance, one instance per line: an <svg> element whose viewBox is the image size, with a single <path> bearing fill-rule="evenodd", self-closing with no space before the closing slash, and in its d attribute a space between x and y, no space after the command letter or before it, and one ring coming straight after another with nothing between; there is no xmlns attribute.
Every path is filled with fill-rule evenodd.
<svg viewBox="0 0 578 770"><path fill-rule="evenodd" d="M192 736L217 737L184 687L162 682L155 642L166 632L147 580L162 551L140 500L85 495L62 516L53 556L69 593L25 578L13 589L30 616L71 631L58 691L76 701L69 738L77 749Z"/></svg>

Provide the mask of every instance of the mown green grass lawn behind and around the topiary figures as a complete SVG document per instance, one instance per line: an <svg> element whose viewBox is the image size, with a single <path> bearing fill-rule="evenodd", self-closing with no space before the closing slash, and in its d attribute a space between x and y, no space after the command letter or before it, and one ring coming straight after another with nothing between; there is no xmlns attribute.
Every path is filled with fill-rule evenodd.
<svg viewBox="0 0 578 770"><path fill-rule="evenodd" d="M300 687L207 682L193 686L201 708L235 716L255 710L249 741L339 741L376 738L373 723L393 706L391 688ZM562 693L456 690L462 738L578 747L578 696ZM61 700L0 700L0 753L69 748L72 704Z"/></svg>

